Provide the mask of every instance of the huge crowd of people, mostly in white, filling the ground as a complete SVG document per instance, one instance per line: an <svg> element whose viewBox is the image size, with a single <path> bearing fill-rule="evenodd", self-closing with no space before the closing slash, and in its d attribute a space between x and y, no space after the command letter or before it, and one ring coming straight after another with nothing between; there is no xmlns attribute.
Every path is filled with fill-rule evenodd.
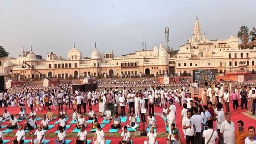
<svg viewBox="0 0 256 144"><path fill-rule="evenodd" d="M67 90L71 88L67 84L62 84L62 86ZM256 143L255 127L250 126L245 130L243 128L244 122L239 120L236 122L238 130L235 130L229 108L231 102L233 103L233 110L241 107L242 109L248 109L252 112L252 115L255 115L255 87L237 86L236 83L227 81L221 83L206 82L201 99L191 97L189 87L198 88L198 83L188 81L187 83L158 85L155 81L149 79L136 82L99 82L98 90L83 92L78 89L71 95L69 91L59 90L55 86L48 88L23 86L23 89L20 89L23 91L19 92L14 92L15 90L12 93L0 91L1 108L8 107L9 101L13 101L13 106L21 107L16 115L10 114L6 108L0 118L0 125L3 121L9 121L7 128L19 129L12 143L24 143L25 130L32 131L36 129L31 143L40 144L45 140L43 130L48 130L49 122L55 119L52 110L58 110L57 129L59 132L55 143L65 144L67 115L63 106L72 103L76 105L76 109L73 110L72 121L74 121L76 128L80 130L75 143L87 143L85 121L91 120L91 127L96 129L92 138L93 143L105 144L104 131L92 109L92 105L102 103L103 112L101 117L104 117L104 121L111 121L112 129L122 129L119 144L131 144L132 137L128 129L137 130L138 118L141 123L145 122L146 128L150 129L144 144L155 144L157 141L155 129L158 124L156 123L154 108L159 107L163 108L161 117L169 129L166 133L168 133L167 140L170 144L181 142L180 131L184 134L187 144ZM240 104L238 103L239 100L241 101ZM28 117L26 111L24 111L25 106L31 109ZM89 107L89 110L86 110L86 107ZM110 110L113 107L117 107L116 110ZM128 108L128 112L125 111L125 107ZM177 111L176 107L182 107L183 109ZM225 107L225 112L223 107ZM48 112L43 115L40 124L37 125L36 113L41 110L48 110ZM142 113L144 110L147 114ZM85 114L87 114L87 117L85 117ZM182 130L178 130L176 127L176 115L178 114L182 116ZM124 116L129 116L129 122L127 125L121 126L121 117ZM26 120L26 123L24 125L19 124L18 120ZM216 125L215 128L213 123ZM0 132L0 144L1 142L3 143L3 134Z"/></svg>

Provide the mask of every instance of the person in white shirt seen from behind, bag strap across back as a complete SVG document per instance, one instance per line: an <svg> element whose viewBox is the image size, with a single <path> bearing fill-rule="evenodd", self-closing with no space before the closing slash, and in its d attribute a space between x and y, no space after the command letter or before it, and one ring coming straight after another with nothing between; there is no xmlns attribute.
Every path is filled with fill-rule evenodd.
<svg viewBox="0 0 256 144"><path fill-rule="evenodd" d="M219 138L218 133L213 130L213 120L208 120L208 129L203 131L203 139L205 144L216 144Z"/></svg>

